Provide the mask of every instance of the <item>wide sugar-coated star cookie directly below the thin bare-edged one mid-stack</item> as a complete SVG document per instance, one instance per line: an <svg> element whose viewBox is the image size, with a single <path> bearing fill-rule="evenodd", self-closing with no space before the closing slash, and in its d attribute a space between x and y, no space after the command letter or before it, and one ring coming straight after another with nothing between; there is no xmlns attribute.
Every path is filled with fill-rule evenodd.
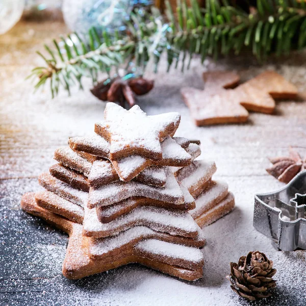
<svg viewBox="0 0 306 306"><path fill-rule="evenodd" d="M88 237L109 237L134 226L147 226L157 232L190 238L198 235L197 225L188 212L138 207L109 223L101 223L95 209L84 208L84 211L83 235Z"/></svg>

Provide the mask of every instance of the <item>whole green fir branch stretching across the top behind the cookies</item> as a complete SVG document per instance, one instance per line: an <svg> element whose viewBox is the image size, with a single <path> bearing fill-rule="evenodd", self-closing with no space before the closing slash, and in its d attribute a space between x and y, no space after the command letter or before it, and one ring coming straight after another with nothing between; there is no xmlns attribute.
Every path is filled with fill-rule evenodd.
<svg viewBox="0 0 306 306"><path fill-rule="evenodd" d="M135 9L123 33L91 29L87 42L77 33L54 40L53 48L45 45L48 58L37 52L45 67L34 68L29 77L38 77L36 89L50 79L55 96L60 86L68 93L74 84L82 88L82 77L96 83L98 71L111 78L114 69L129 71L131 63L144 71L149 60L157 70L164 52L168 70L181 63L183 71L194 54L204 61L207 56L239 55L244 48L264 61L271 53L289 54L306 45L306 0L257 0L250 13L226 0L207 0L205 9L196 0L190 7L182 1L178 0L175 13L167 2L166 16L154 7Z"/></svg>

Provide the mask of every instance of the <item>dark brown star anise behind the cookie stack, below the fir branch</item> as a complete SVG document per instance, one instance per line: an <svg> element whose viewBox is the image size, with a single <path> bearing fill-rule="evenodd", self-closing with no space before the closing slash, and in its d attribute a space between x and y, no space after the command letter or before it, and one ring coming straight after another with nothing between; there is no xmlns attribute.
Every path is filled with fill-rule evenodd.
<svg viewBox="0 0 306 306"><path fill-rule="evenodd" d="M90 91L98 99L103 101L118 102L124 107L125 101L130 107L136 104L135 95L148 93L154 87L154 81L139 78L106 79L99 82Z"/></svg>

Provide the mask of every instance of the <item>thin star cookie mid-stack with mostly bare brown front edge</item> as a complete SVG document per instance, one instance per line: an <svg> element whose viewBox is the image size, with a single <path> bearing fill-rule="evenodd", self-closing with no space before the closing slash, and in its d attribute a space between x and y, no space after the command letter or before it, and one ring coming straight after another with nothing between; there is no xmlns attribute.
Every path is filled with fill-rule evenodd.
<svg viewBox="0 0 306 306"><path fill-rule="evenodd" d="M98 206L96 208L98 220L102 223L108 223L140 206L155 206L175 210L194 209L194 198L184 186L181 186L181 190L183 191L184 195L184 201L181 204L166 203L160 200L153 200L147 197L137 196L115 203L114 205Z"/></svg>

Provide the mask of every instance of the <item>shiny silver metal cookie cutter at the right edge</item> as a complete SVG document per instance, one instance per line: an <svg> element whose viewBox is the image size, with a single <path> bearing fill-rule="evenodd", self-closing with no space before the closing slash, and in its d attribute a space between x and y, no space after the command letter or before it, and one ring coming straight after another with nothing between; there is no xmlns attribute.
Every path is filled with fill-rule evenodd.
<svg viewBox="0 0 306 306"><path fill-rule="evenodd" d="M255 195L253 225L281 250L306 249L306 170L278 191Z"/></svg>

